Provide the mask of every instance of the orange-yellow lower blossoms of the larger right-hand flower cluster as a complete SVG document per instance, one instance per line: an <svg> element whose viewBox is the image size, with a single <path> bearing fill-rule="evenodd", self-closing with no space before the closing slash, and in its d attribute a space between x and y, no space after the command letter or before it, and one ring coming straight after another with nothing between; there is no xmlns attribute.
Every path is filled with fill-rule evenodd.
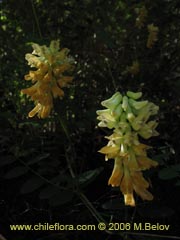
<svg viewBox="0 0 180 240"><path fill-rule="evenodd" d="M143 200L152 200L153 196L148 192L149 183L143 178L141 170L156 167L157 162L147 157L145 144L133 144L122 149L123 137L113 133L106 137L109 139L107 146L99 150L105 154L105 160L114 158L114 168L109 178L108 185L120 187L124 195L125 205L135 206L133 192L135 191Z"/></svg>

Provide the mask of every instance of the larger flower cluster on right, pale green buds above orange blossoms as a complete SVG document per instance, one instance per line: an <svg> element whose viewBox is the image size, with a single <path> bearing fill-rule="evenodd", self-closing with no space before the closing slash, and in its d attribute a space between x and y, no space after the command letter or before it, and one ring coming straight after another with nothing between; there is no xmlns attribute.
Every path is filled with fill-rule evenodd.
<svg viewBox="0 0 180 240"><path fill-rule="evenodd" d="M116 92L101 103L106 109L97 111L98 126L113 129L112 135L105 137L109 140L107 146L99 151L105 154L105 160L114 159L108 184L119 186L125 205L130 206L135 206L134 191L144 200L153 199L141 171L157 165L147 156L150 147L140 143L138 136L148 139L158 135L157 122L148 120L159 108L152 102L139 101L141 96L141 92L128 91L125 96Z"/></svg>

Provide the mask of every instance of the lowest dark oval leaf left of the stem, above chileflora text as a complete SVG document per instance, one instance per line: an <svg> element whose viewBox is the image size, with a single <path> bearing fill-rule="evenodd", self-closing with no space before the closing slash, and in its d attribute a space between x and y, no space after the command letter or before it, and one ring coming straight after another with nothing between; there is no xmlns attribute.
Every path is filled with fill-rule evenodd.
<svg viewBox="0 0 180 240"><path fill-rule="evenodd" d="M66 204L72 200L73 195L73 191L60 191L50 198L49 204L53 207Z"/></svg>

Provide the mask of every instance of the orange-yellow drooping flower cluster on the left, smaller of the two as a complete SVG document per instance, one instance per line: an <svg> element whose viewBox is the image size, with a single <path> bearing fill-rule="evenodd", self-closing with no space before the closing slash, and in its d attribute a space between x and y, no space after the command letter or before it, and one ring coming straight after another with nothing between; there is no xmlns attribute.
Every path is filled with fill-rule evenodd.
<svg viewBox="0 0 180 240"><path fill-rule="evenodd" d="M73 69L74 59L68 56L69 50L60 50L59 40L53 40L50 46L32 44L32 54L27 53L25 59L28 65L36 68L25 75L25 80L31 80L33 86L22 89L35 103L35 107L29 112L29 117L36 114L39 118L49 116L53 108L53 98L64 96L63 87L72 80L72 76L66 75Z"/></svg>

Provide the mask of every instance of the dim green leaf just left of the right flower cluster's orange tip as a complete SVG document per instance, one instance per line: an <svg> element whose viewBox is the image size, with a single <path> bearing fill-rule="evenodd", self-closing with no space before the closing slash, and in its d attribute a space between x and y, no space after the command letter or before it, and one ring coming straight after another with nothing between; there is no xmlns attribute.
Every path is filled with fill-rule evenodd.
<svg viewBox="0 0 180 240"><path fill-rule="evenodd" d="M100 167L82 173L78 178L79 184L83 187L88 185L89 183L96 179L96 177L102 172L102 170L103 167Z"/></svg>

